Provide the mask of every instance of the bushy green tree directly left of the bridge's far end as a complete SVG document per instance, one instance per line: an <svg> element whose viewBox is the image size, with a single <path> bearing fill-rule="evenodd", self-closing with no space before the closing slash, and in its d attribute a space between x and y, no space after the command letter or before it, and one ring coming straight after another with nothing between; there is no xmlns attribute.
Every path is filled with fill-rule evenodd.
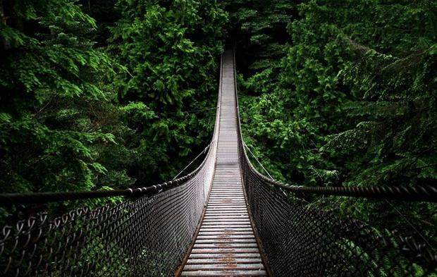
<svg viewBox="0 0 437 277"><path fill-rule="evenodd" d="M140 183L173 178L211 137L227 15L216 1L117 6L121 19L111 28L109 49L125 66L114 85L137 130L128 142L137 157L131 169Z"/></svg>

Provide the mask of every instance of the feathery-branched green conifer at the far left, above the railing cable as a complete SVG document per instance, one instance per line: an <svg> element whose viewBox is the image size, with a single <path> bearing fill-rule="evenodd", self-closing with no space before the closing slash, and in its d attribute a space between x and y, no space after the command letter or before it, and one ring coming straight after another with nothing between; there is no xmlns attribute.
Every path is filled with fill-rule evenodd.
<svg viewBox="0 0 437 277"><path fill-rule="evenodd" d="M2 192L101 186L117 172L101 156L120 148L111 130L121 123L102 85L111 60L88 38L95 21L74 1L9 5L0 31Z"/></svg>

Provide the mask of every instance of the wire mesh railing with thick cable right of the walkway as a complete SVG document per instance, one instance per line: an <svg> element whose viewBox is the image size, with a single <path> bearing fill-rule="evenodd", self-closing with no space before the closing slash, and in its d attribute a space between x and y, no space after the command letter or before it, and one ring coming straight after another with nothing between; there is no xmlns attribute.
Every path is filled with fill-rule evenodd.
<svg viewBox="0 0 437 277"><path fill-rule="evenodd" d="M437 276L437 255L425 243L308 207L286 193L437 202L436 187L285 185L261 175L250 163L240 116L238 130L247 202L273 276Z"/></svg>

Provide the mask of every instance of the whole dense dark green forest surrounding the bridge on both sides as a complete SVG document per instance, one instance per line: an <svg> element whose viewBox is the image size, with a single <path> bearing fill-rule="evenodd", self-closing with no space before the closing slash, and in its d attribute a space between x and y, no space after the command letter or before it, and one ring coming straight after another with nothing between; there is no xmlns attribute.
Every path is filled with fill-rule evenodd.
<svg viewBox="0 0 437 277"><path fill-rule="evenodd" d="M275 180L437 184L437 1L0 0L0 19L1 193L171 180L211 140L228 46L242 135ZM304 199L437 247L435 203Z"/></svg>

